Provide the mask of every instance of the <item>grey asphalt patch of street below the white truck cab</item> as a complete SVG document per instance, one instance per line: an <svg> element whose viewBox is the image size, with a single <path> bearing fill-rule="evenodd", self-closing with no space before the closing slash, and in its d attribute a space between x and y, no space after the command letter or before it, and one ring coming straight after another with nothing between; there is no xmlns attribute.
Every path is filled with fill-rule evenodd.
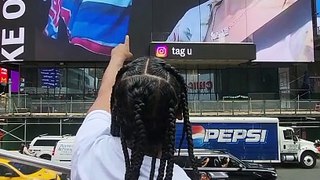
<svg viewBox="0 0 320 180"><path fill-rule="evenodd" d="M313 169L302 169L296 164L277 167L279 180L318 180L320 179L320 159Z"/></svg>

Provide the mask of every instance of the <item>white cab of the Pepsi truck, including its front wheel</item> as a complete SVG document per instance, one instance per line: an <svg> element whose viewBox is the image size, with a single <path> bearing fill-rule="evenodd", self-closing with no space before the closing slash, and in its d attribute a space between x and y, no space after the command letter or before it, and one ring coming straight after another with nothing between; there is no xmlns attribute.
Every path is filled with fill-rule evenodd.
<svg viewBox="0 0 320 180"><path fill-rule="evenodd" d="M320 153L311 141L299 139L293 128L279 126L280 157L282 163L298 162L303 168L313 168Z"/></svg>

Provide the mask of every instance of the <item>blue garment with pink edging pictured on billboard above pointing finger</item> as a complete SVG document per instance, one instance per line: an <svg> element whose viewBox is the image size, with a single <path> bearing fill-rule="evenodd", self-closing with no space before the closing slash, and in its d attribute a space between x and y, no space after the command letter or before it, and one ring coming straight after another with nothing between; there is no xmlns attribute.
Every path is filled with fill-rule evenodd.
<svg viewBox="0 0 320 180"><path fill-rule="evenodd" d="M58 39L60 26L65 26L71 44L110 55L111 49L122 43L128 33L131 1L52 0L44 33Z"/></svg>

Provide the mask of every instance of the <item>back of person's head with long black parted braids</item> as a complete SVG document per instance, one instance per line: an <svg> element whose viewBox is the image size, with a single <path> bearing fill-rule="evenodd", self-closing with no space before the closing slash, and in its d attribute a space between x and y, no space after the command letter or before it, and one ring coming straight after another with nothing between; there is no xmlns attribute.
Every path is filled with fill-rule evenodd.
<svg viewBox="0 0 320 180"><path fill-rule="evenodd" d="M161 158L158 178L166 169L166 178L171 179L176 115L182 113L189 122L186 86L178 71L154 57L132 61L118 72L111 109L111 133L121 138L125 178L138 179L143 156L149 155ZM191 126L189 130L192 149ZM127 147L132 150L130 158Z"/></svg>

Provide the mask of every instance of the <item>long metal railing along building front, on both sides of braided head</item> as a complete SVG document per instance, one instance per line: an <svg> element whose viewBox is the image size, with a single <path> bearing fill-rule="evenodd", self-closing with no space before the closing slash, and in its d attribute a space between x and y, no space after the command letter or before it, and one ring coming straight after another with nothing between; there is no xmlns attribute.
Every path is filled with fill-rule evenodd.
<svg viewBox="0 0 320 180"><path fill-rule="evenodd" d="M8 100L10 101L10 99ZM5 102L8 102L5 101ZM84 116L93 101L86 100L47 100L29 98L28 96L11 98L11 103L0 106L0 114L14 115L19 113L42 115L78 115ZM192 115L236 116L236 115L319 115L317 108L320 100L217 100L189 101ZM11 105L11 107L9 107ZM1 108L2 107L2 108Z"/></svg>

